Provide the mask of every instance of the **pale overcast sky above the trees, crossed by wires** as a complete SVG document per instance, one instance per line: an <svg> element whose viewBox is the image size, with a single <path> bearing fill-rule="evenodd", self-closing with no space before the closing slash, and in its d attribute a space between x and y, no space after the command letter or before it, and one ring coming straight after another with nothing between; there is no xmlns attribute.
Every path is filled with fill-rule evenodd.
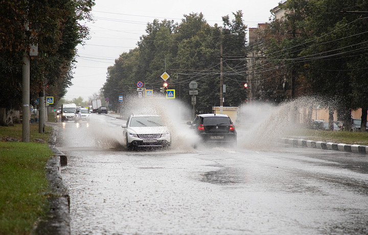
<svg viewBox="0 0 368 235"><path fill-rule="evenodd" d="M211 26L215 23L222 26L222 16L229 15L234 19L233 12L242 10L244 24L248 28L256 28L258 23L269 21L270 10L277 7L279 2L280 0L96 0L92 11L95 20L87 23L90 39L84 46L77 47L73 85L67 89L64 98L72 100L82 97L88 101L93 93L98 93L106 82L107 67L113 65L114 60L122 53L136 47L140 36L145 34L147 23L153 22L155 18L180 22L185 14L202 12Z"/></svg>

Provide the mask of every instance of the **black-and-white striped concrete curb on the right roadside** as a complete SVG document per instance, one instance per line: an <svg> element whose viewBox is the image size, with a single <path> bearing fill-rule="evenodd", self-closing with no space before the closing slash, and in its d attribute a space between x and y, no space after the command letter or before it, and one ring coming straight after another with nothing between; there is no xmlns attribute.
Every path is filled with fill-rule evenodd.
<svg viewBox="0 0 368 235"><path fill-rule="evenodd" d="M307 148L368 154L368 146L365 145L347 145L347 144L337 144L305 139L294 139L294 138L280 138L279 143L292 145L296 147L307 147Z"/></svg>

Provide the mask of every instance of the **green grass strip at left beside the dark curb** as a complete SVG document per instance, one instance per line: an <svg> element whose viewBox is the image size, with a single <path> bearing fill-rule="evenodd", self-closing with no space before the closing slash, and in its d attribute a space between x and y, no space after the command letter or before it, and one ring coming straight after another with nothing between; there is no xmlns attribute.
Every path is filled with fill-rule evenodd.
<svg viewBox="0 0 368 235"><path fill-rule="evenodd" d="M49 212L44 167L54 155L47 144L52 127L44 132L30 124L30 143L23 143L22 124L0 127L0 234L31 234Z"/></svg>

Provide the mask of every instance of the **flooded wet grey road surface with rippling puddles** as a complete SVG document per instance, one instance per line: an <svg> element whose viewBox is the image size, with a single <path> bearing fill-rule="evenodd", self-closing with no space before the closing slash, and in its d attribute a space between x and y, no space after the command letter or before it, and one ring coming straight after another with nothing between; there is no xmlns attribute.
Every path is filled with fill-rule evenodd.
<svg viewBox="0 0 368 235"><path fill-rule="evenodd" d="M57 124L72 234L368 233L366 155L193 149L183 139L128 152L122 123L92 114Z"/></svg>

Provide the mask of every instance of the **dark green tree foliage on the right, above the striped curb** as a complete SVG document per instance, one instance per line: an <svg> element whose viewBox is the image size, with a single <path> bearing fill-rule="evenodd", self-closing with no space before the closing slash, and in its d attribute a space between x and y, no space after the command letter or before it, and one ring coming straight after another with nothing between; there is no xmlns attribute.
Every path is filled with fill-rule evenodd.
<svg viewBox="0 0 368 235"><path fill-rule="evenodd" d="M312 93L338 101L343 109L367 107L364 87L368 76L363 71L368 61L364 53L368 21L354 11L366 11L368 4L360 0L288 0L280 7L287 12L286 20L272 21L262 34L266 48L260 70L262 98L289 98L278 99L282 85L284 93L294 91L292 97ZM343 13L346 9L352 13Z"/></svg>

